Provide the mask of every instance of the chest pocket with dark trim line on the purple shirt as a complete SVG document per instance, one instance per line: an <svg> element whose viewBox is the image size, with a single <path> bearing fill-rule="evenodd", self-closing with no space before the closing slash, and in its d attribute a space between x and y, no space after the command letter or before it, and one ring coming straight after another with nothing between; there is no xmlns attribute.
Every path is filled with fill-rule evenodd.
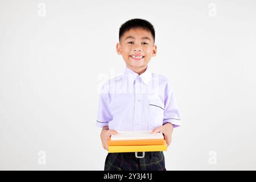
<svg viewBox="0 0 256 182"><path fill-rule="evenodd" d="M149 100L148 104L148 129L163 125L164 104L162 101Z"/></svg>

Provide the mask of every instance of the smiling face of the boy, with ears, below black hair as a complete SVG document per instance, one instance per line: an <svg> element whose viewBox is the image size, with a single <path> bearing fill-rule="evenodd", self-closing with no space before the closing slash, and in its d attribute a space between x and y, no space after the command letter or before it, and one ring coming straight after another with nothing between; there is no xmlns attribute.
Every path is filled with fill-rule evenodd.
<svg viewBox="0 0 256 182"><path fill-rule="evenodd" d="M123 56L126 66L133 71L146 69L151 57L156 55L151 32L142 28L126 31L117 43L117 53Z"/></svg>

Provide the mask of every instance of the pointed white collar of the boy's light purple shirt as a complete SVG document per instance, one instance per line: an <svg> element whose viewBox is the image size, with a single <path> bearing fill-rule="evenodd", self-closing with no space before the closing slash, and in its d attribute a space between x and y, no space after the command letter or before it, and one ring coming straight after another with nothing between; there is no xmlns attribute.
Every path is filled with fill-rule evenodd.
<svg viewBox="0 0 256 182"><path fill-rule="evenodd" d="M139 75L138 73L135 73L133 70L131 70L130 68L125 68L125 75L126 78L128 78L129 80L133 81L135 80L135 78L137 76L141 77L142 81L144 82L144 84L148 84L148 82L150 82L150 79L152 77L152 73L150 72L150 69L146 68L146 71L144 73L142 73L141 75Z"/></svg>

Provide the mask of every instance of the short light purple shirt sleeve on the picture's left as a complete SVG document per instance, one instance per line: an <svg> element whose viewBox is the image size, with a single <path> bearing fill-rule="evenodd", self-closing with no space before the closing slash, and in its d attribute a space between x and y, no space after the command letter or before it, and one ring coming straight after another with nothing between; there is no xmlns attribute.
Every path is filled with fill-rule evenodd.
<svg viewBox="0 0 256 182"><path fill-rule="evenodd" d="M112 121L113 115L109 110L109 93L101 92L100 100L98 102L98 114L96 120L97 127L108 126L109 122Z"/></svg>

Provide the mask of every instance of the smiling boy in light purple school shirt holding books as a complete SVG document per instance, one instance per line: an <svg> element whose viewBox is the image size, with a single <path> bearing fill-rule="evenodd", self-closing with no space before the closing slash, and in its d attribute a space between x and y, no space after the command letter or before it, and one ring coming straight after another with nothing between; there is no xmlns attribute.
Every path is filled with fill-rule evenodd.
<svg viewBox="0 0 256 182"><path fill-rule="evenodd" d="M174 127L181 126L174 92L166 77L151 73L148 62L156 55L155 30L150 22L131 19L119 29L117 53L126 63L125 73L102 86L96 126L102 127L102 146L117 131L148 130L163 133L167 146ZM109 153L105 170L166 170L163 152Z"/></svg>

